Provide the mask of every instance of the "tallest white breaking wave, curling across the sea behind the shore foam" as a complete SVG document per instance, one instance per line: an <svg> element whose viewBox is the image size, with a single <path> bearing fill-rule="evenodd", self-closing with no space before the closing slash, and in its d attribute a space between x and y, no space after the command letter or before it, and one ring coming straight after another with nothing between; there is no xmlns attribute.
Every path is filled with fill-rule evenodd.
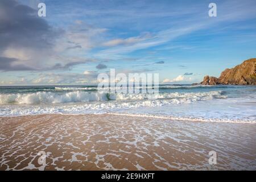
<svg viewBox="0 0 256 182"><path fill-rule="evenodd" d="M91 102L109 100L174 100L180 102L194 102L199 100L212 100L213 98L226 98L222 91L198 92L198 93L159 93L159 94L109 94L104 92L82 92L81 90L56 93L16 93L0 94L0 104L55 104L63 102Z"/></svg>

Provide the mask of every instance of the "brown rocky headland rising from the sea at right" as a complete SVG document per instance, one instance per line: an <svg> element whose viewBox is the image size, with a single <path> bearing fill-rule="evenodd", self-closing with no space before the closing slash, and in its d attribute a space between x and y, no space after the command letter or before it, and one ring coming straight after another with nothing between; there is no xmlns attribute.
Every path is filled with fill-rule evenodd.
<svg viewBox="0 0 256 182"><path fill-rule="evenodd" d="M219 78L205 76L200 84L256 85L256 59L249 59L234 68L225 69Z"/></svg>

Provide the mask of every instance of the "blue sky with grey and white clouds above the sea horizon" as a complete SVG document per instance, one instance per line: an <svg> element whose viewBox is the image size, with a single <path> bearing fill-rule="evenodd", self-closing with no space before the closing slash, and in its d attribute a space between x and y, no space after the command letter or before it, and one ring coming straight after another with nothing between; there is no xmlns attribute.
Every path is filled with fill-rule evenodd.
<svg viewBox="0 0 256 182"><path fill-rule="evenodd" d="M218 77L256 57L255 10L255 0L1 0L0 85L96 84L110 69L167 84Z"/></svg>

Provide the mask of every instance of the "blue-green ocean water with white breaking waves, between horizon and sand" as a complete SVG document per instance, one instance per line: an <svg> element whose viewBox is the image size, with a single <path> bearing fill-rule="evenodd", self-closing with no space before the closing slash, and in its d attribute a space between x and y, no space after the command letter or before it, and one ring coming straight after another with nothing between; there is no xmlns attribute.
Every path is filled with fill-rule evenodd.
<svg viewBox="0 0 256 182"><path fill-rule="evenodd" d="M0 86L0 116L137 115L203 122L256 123L256 86L159 85L152 94L107 93L95 85Z"/></svg>

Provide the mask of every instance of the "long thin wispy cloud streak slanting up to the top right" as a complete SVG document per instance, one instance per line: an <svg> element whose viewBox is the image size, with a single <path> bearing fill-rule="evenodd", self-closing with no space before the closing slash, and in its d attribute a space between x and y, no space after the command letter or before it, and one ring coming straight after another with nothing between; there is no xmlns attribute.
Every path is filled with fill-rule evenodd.
<svg viewBox="0 0 256 182"><path fill-rule="evenodd" d="M201 13L196 13L195 9L193 9L193 11L195 12L188 10L189 12L188 17L181 22L179 22L179 20L182 16L182 13L175 14L177 20L172 21L172 23L176 23L175 27L154 32L154 34L151 33L151 36L148 36L146 39L139 40L138 42L134 42L132 45L122 44L122 46L119 46L119 47L104 49L98 52L96 56L98 57L113 56L119 59L118 55L121 56L121 55L125 55L126 53L138 51L140 49L147 49L147 48L163 45L166 43L170 43L172 40L175 40L180 36L188 35L195 31L209 29L210 27L214 27L214 26L216 27L218 24L222 24L225 22L250 18L250 14L245 10L246 10L246 7L250 7L250 5L253 5L253 4L254 4L253 1L248 1L243 5L241 5L241 2L237 4L232 1L218 2L218 7L220 7L219 12L221 16L220 18L218 17L216 19L209 19L209 16L207 14L208 9L201 11ZM234 9L236 9L237 11L234 11ZM191 14L192 12L195 14ZM254 12L253 14L255 15L256 13ZM129 40L129 38L127 38L126 40Z"/></svg>

